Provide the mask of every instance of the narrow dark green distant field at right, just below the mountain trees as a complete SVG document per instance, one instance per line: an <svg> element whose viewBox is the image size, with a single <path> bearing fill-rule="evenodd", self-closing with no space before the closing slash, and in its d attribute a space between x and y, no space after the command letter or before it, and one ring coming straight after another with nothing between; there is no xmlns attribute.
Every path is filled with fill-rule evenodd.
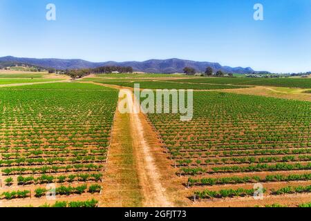
<svg viewBox="0 0 311 221"><path fill-rule="evenodd" d="M202 77L198 79L178 79L176 82L205 83L205 84L235 84L252 86L279 86L288 88L311 88L311 78L216 78Z"/></svg>

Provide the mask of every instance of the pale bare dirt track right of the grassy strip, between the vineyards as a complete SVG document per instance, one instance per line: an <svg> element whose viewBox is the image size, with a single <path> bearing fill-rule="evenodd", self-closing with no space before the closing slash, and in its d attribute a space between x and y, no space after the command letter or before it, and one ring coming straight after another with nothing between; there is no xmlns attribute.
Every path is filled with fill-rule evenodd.
<svg viewBox="0 0 311 221"><path fill-rule="evenodd" d="M97 84L102 86L110 86L116 89L122 89L120 86L111 86L104 84ZM124 114L129 115L129 128L131 131L131 140L133 146L133 156L135 159L135 169L138 174L138 180L140 184L140 191L142 193L142 206L147 207L170 207L173 206L172 202L169 201L166 194L166 189L162 186L160 180L161 175L152 154L151 146L147 140L148 134L144 132L144 126L149 125L147 119L143 113L140 113L140 105L134 102L134 96L131 90L125 89L124 99L126 104L129 105L130 113ZM117 115L121 117L121 115ZM114 130L122 131L122 128L126 125L115 124ZM111 151L114 151L113 144ZM109 166L109 162L108 162Z"/></svg>

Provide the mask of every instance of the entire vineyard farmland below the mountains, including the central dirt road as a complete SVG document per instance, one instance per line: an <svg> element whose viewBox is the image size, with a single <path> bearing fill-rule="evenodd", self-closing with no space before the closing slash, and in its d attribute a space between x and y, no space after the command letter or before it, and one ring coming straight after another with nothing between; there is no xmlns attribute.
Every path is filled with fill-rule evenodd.
<svg viewBox="0 0 311 221"><path fill-rule="evenodd" d="M310 79L10 76L0 206L310 206ZM196 90L194 118L115 111L134 84Z"/></svg>

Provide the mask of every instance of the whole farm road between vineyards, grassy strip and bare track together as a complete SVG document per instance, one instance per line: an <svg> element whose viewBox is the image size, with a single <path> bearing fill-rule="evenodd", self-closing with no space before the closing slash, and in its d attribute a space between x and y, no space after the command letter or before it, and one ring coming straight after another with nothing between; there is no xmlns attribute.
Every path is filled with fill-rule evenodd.
<svg viewBox="0 0 311 221"><path fill-rule="evenodd" d="M120 86L97 85L124 89ZM108 188L104 187L106 191L100 205L171 207L173 203L168 199L166 189L161 183L161 173L153 155L153 148L159 146L159 143L154 142L154 139L153 142L148 139L156 135L152 135L152 131L146 133L146 126L151 126L144 114L139 113L140 105L135 105L132 91L124 89L123 92L124 97L120 99L126 99L126 104L133 111L122 114L117 110L115 115L109 160L104 176L104 183ZM107 202L107 196L111 194L115 195L115 198Z"/></svg>

